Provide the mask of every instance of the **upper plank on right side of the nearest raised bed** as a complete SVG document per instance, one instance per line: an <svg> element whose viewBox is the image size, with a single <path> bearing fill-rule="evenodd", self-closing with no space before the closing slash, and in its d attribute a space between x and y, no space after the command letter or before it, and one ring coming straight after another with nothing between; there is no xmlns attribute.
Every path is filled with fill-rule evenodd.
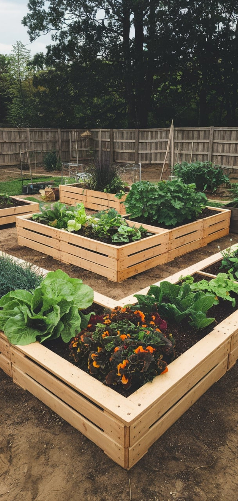
<svg viewBox="0 0 238 501"><path fill-rule="evenodd" d="M230 339L223 343L218 349L214 350L211 355L204 356L204 359L188 370L184 375L177 374L176 384L161 392L157 402L150 407L139 417L137 422L132 424L130 433L130 445L135 443L141 432L148 430L153 423L160 419L171 407L173 407L184 394L188 393L200 380L203 380L206 374L209 374L214 367L220 362L226 360L230 351ZM169 371L170 367L168 367ZM160 376L158 376L159 378ZM172 378L171 378L172 379ZM159 383L159 379L157 380ZM161 388L163 380L161 379ZM134 398L134 397L132 397Z"/></svg>

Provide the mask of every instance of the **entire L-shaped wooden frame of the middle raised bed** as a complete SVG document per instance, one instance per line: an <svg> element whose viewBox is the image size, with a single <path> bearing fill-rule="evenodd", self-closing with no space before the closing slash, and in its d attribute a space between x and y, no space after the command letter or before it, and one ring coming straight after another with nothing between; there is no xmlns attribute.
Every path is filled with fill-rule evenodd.
<svg viewBox="0 0 238 501"><path fill-rule="evenodd" d="M169 230L144 224L154 233L152 236L120 246L52 228L30 220L30 216L20 216L16 219L17 240L19 245L62 263L121 282L227 235L230 211L215 210L217 214ZM128 223L139 226L134 221Z"/></svg>

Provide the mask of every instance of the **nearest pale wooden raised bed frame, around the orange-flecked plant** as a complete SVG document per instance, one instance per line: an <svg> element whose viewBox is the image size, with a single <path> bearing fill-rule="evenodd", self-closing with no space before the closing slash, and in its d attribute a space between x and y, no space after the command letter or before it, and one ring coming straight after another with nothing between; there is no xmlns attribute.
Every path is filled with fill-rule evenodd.
<svg viewBox="0 0 238 501"><path fill-rule="evenodd" d="M218 261L212 256L167 280L196 273ZM201 272L202 273L202 272ZM156 284L159 285L159 282ZM146 289L139 292L146 292ZM94 302L115 302L95 293ZM134 302L129 296L116 304ZM116 463L130 469L238 357L238 312L174 360L127 398L40 345L10 345L0 332L0 367L13 381L44 402L98 445Z"/></svg>

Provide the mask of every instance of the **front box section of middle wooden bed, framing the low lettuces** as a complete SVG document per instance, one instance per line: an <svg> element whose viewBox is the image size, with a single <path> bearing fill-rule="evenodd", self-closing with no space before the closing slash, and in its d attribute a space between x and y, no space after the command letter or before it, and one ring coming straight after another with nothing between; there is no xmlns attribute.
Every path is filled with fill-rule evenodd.
<svg viewBox="0 0 238 501"><path fill-rule="evenodd" d="M130 221L128 223L133 225ZM140 226L139 223L135 225ZM17 217L16 229L19 245L114 282L167 262L168 231L162 228L151 236L120 246L52 228L30 220L30 216Z"/></svg>

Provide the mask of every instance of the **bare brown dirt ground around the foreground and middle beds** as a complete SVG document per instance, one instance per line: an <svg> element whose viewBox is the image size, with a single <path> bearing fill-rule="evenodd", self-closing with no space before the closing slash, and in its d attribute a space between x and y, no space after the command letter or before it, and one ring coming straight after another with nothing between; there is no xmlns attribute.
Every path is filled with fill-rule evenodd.
<svg viewBox="0 0 238 501"><path fill-rule="evenodd" d="M13 225L0 229L0 250L61 268L118 300L227 247L231 237L238 241L229 234L120 284L20 247ZM125 471L0 370L0 500L238 501L237 375L236 364Z"/></svg>

